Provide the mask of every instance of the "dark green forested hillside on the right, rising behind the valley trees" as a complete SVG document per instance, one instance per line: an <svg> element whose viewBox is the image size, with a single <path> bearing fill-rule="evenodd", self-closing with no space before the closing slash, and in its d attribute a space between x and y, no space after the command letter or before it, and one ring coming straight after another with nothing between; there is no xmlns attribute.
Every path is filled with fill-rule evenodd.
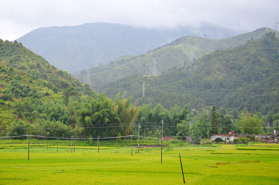
<svg viewBox="0 0 279 185"><path fill-rule="evenodd" d="M218 49L194 63L170 70L163 75L131 75L105 85L109 97L126 92L141 103L170 108L190 103L196 109L215 105L218 108L244 107L267 114L279 107L279 39L275 33L251 40L230 49Z"/></svg>

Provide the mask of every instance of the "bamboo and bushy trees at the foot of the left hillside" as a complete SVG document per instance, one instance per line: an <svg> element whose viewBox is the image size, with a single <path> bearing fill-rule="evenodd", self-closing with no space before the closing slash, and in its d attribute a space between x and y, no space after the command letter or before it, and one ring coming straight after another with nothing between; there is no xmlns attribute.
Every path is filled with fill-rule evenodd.
<svg viewBox="0 0 279 185"><path fill-rule="evenodd" d="M68 101L19 101L7 135L116 136L132 135L139 107L131 99L111 101L105 94L70 96Z"/></svg>

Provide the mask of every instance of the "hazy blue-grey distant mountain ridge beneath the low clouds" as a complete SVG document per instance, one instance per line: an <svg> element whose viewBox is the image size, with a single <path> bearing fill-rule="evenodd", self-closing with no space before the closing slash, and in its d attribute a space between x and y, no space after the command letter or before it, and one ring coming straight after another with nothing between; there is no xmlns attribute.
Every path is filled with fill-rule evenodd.
<svg viewBox="0 0 279 185"><path fill-rule="evenodd" d="M16 41L73 74L90 66L109 63L122 55L146 53L185 35L224 39L236 34L235 30L207 23L197 29L168 30L98 22L38 28Z"/></svg>

